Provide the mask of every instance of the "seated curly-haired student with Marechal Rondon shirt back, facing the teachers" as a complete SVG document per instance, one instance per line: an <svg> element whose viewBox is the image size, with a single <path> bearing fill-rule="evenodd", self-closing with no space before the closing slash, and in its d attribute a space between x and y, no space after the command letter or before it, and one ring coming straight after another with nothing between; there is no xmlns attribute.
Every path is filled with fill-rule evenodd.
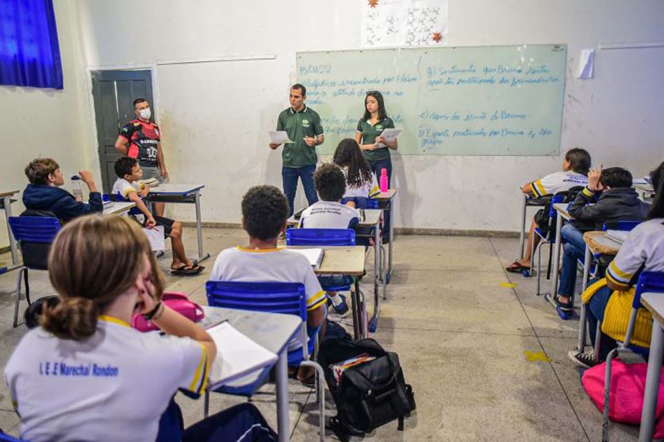
<svg viewBox="0 0 664 442"><path fill-rule="evenodd" d="M313 174L313 182L318 193L318 202L302 212L299 219L300 228L349 229L360 222L357 209L341 204L341 198L346 192L346 177L338 166L323 164ZM347 276L322 276L319 280L327 287L351 285ZM344 295L328 291L327 296L338 314L344 316L348 313L348 303Z"/></svg>

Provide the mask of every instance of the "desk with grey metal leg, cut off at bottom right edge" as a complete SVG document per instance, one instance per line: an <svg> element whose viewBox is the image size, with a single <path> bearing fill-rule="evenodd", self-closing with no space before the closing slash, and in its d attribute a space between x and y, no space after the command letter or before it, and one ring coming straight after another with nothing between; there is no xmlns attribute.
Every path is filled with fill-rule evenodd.
<svg viewBox="0 0 664 442"><path fill-rule="evenodd" d="M655 428L655 410L659 393L659 381L664 356L664 295L645 293L641 296L641 304L652 313L652 336L650 337L650 357L648 372L645 376L645 394L643 395L643 412L638 431L638 440L652 441Z"/></svg>

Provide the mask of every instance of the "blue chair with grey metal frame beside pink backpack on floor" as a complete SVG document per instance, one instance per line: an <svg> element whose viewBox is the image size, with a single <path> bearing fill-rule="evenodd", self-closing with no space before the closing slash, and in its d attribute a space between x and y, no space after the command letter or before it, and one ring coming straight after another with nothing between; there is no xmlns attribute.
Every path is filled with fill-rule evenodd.
<svg viewBox="0 0 664 442"><path fill-rule="evenodd" d="M638 277L636 282L636 292L634 293L634 300L631 303L631 315L629 316L629 323L627 324L627 331L625 332L625 340L620 343L618 347L614 348L607 355L606 372L604 378L604 416L602 421L602 441L609 440L609 392L611 389L611 361L620 353L633 352L647 356L649 349L639 347L638 345L630 344L631 335L634 333L636 326L636 315L638 309L643 307L641 304L641 295L644 293L660 293L664 294L664 272L662 271L643 271ZM656 325L654 325L656 327ZM602 324L598 322L597 334L595 338L595 354L599 351L599 342L601 336Z"/></svg>

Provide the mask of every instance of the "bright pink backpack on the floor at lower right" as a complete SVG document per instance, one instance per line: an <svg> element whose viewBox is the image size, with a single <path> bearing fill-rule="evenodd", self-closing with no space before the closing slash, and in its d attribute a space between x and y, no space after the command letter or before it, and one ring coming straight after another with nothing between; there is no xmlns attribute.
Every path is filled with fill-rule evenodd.
<svg viewBox="0 0 664 442"><path fill-rule="evenodd" d="M598 364L587 369L581 378L584 390L600 412L604 412L604 375L606 369L606 363ZM647 363L626 364L620 359L614 359L611 364L611 393L609 395L609 419L611 421L632 425L638 425L641 422L647 369ZM662 379L664 379L664 375ZM664 384L660 383L655 412L654 439L664 437L663 417Z"/></svg>

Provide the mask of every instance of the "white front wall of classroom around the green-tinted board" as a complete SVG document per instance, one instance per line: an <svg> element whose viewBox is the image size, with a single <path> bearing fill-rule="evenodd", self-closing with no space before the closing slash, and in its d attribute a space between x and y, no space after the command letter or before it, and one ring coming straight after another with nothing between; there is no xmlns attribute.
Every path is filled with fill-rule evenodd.
<svg viewBox="0 0 664 442"><path fill-rule="evenodd" d="M176 0L76 3L88 66L275 55L154 66L155 108L174 182L203 182L203 219L238 222L252 184L280 186L268 130L288 106L295 52L355 49L363 1ZM194 6L195 4L195 6ZM568 45L562 151L583 146L596 164L643 175L664 160L658 121L664 48L600 50L596 76L575 79L582 48L664 41L664 2L450 0L451 46ZM388 111L389 111L389 102ZM362 102L358 101L358 117ZM94 151L91 149L91 152ZM394 155L397 226L515 231L517 187L560 168L560 157ZM299 204L304 204L300 195ZM192 220L190 208L172 214Z"/></svg>

